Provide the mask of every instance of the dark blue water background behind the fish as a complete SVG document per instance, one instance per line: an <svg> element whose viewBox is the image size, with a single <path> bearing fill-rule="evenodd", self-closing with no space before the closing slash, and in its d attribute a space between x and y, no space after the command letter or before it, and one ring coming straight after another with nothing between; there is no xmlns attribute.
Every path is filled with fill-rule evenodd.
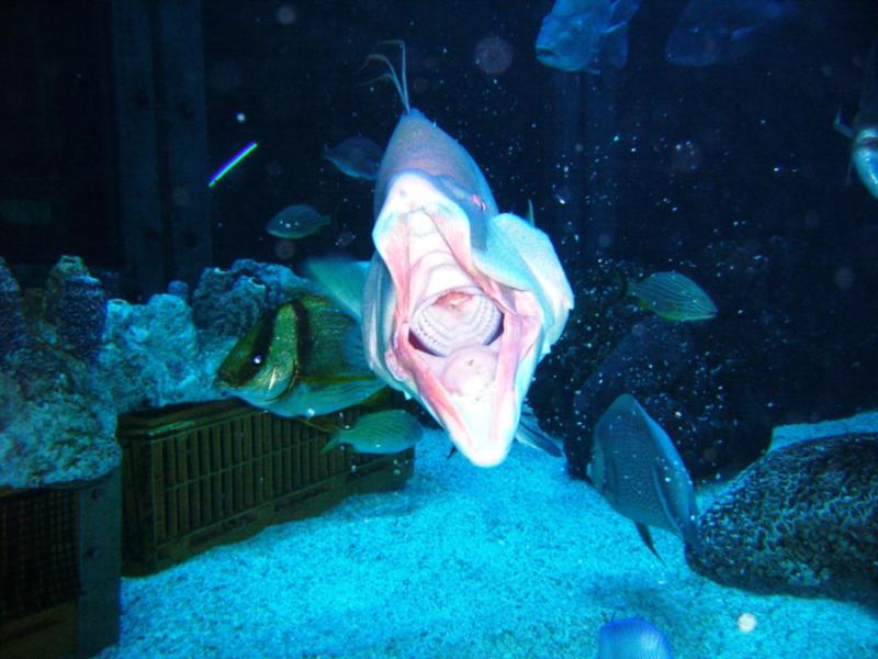
<svg viewBox="0 0 878 659"><path fill-rule="evenodd" d="M606 281L617 266L697 275L721 310L710 330L694 331L702 351L734 344L725 361L746 362L736 383L773 423L878 406L878 201L846 183L849 145L832 129L838 109L848 122L856 111L878 9L809 2L810 19L770 47L682 68L664 45L685 4L643 0L627 67L594 78L536 60L548 0L202 2L206 169L260 145L212 191L213 265L370 256L371 186L320 152L356 134L390 136L399 100L390 85L359 85L380 72L360 67L375 44L402 38L413 105L468 148L500 210L524 214L533 201L572 280ZM108 185L113 81L95 27L109 8L35 0L0 10L0 186L14 178L63 208L44 226L2 224L2 255L22 279L61 254L95 270L123 266ZM491 36L514 54L498 76L475 63ZM263 227L291 203L333 213L335 225L289 258ZM593 292L577 290L577 306ZM581 326L566 336L573 347L589 338Z"/></svg>

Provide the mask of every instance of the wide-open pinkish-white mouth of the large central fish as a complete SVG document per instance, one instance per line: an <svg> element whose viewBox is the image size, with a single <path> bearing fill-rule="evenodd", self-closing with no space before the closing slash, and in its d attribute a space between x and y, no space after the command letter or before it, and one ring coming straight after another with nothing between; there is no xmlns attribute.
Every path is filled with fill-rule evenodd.
<svg viewBox="0 0 878 659"><path fill-rule="evenodd" d="M390 338L379 358L477 466L502 462L520 414L520 365L536 364L533 295L477 267L479 200L450 199L428 175L394 180L373 238L395 289ZM468 214L468 211L471 214Z"/></svg>

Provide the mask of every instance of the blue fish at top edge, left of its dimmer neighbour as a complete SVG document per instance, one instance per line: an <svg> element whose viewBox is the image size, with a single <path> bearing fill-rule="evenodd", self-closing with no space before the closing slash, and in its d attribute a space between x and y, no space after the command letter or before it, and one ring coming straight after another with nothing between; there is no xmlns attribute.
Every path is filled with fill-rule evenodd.
<svg viewBox="0 0 878 659"><path fill-rule="evenodd" d="M628 22L640 0L556 0L537 35L537 59L562 71L600 74L628 60Z"/></svg>

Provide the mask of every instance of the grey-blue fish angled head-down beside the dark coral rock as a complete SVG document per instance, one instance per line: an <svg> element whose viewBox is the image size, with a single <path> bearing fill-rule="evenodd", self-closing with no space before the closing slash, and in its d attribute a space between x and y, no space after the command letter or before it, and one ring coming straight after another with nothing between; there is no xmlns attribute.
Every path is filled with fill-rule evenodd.
<svg viewBox="0 0 878 659"><path fill-rule="evenodd" d="M650 526L697 546L698 509L689 473L671 437L630 393L617 398L595 425L588 474L655 556Z"/></svg>

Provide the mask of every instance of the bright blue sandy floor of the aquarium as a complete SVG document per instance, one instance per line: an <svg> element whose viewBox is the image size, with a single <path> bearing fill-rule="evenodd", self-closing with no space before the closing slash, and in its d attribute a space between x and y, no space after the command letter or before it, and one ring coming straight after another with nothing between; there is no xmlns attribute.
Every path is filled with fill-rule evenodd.
<svg viewBox="0 0 878 659"><path fill-rule="evenodd" d="M582 659L614 615L651 621L678 659L878 657L875 612L718 585L655 530L662 565L561 459L517 445L479 469L448 450L430 432L402 491L124 579L101 657Z"/></svg>

